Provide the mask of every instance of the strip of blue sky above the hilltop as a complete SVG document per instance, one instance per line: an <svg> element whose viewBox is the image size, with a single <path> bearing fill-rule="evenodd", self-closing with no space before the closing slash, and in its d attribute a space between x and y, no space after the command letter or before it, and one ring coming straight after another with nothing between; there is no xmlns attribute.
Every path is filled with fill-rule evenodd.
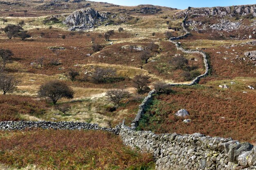
<svg viewBox="0 0 256 170"><path fill-rule="evenodd" d="M216 7L232 6L241 4L256 4L255 0L92 0L98 2L108 2L117 5L135 6L139 4L153 4L177 9L187 7Z"/></svg>

